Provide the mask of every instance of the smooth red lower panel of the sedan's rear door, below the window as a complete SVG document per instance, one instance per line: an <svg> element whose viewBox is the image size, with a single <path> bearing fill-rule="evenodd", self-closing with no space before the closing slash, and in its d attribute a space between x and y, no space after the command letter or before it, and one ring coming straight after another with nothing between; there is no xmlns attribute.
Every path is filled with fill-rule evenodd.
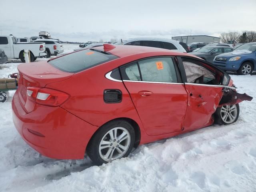
<svg viewBox="0 0 256 192"><path fill-rule="evenodd" d="M124 82L148 135L178 132L183 128L188 93L184 84ZM149 92L150 95L141 95Z"/></svg>

